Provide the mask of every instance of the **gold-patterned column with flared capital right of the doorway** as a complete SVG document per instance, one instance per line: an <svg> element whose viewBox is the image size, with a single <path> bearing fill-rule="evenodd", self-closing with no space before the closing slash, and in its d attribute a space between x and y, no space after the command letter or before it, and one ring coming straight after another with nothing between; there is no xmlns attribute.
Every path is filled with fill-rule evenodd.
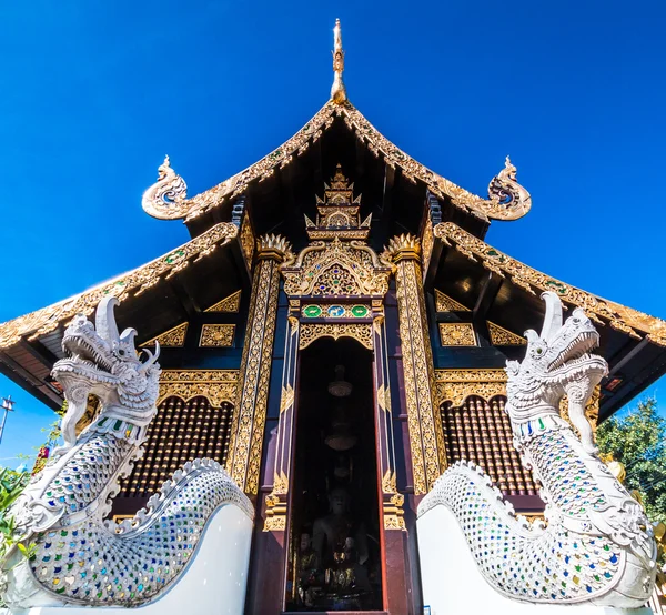
<svg viewBox="0 0 666 615"><path fill-rule="evenodd" d="M390 254L396 263L396 296L414 493L427 493L446 467L441 414L435 406L433 354L425 312L420 241L393 239Z"/></svg>

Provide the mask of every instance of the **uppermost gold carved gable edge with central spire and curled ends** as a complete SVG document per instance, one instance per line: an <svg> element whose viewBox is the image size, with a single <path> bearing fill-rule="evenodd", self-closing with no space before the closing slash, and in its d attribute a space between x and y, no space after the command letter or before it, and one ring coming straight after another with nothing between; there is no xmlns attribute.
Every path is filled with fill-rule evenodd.
<svg viewBox="0 0 666 615"><path fill-rule="evenodd" d="M450 200L454 206L483 221L516 220L529 211L532 198L529 192L516 181L516 168L508 158L505 168L491 180L487 199L483 199L431 171L379 132L347 99L342 78L344 50L340 20L336 20L333 33L334 79L331 99L296 134L259 162L192 198L188 198L184 180L170 167L167 157L159 168L158 181L143 194L143 210L160 220L183 219L185 222L193 220L243 194L251 183L261 182L271 177L275 170L292 163L321 139L336 118L342 118L356 139L374 155L381 155L389 167L400 169L408 181L422 182L436 198Z"/></svg>

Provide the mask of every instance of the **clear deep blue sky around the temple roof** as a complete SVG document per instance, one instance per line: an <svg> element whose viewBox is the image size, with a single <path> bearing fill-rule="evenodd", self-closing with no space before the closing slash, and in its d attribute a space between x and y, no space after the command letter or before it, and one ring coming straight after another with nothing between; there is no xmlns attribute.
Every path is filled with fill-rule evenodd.
<svg viewBox="0 0 666 615"><path fill-rule="evenodd" d="M666 317L663 2L37 0L0 8L0 321L185 241L141 210L164 154L195 194L291 137L336 17L350 99L398 147L478 194L511 154L533 210L487 241ZM8 394L0 463L52 419Z"/></svg>

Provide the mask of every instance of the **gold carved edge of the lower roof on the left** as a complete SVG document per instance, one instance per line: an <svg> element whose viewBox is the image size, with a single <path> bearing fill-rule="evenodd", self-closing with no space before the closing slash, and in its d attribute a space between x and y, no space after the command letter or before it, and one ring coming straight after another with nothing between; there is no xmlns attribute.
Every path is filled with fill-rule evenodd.
<svg viewBox="0 0 666 615"><path fill-rule="evenodd" d="M24 336L36 340L58 329L61 323L77 314L89 316L105 296L113 295L122 301L132 293L141 294L160 280L168 279L185 269L191 262L206 256L220 245L226 245L238 235L238 232L235 224L221 222L192 241L139 269L123 273L84 293L6 322L0 325L0 347L12 346Z"/></svg>

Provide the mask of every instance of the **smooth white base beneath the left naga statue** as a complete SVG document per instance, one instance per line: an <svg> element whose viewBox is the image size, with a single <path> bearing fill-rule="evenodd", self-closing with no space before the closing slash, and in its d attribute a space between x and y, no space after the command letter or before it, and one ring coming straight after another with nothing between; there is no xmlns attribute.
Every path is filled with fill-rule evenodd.
<svg viewBox="0 0 666 615"><path fill-rule="evenodd" d="M180 581L138 608L36 606L11 615L241 615L245 603L252 521L238 506L218 511Z"/></svg>

